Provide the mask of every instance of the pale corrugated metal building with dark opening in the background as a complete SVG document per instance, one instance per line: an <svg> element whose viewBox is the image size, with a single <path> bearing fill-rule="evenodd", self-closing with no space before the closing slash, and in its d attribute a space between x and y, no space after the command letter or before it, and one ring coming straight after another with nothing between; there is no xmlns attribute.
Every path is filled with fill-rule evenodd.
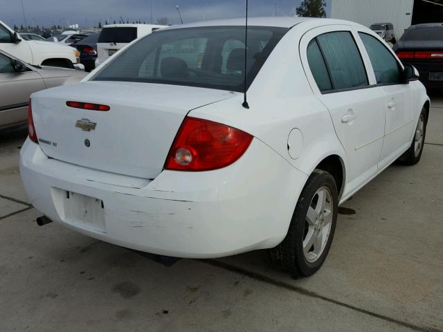
<svg viewBox="0 0 443 332"><path fill-rule="evenodd" d="M399 40L411 24L443 23L443 0L332 0L331 17L367 27L392 23Z"/></svg>

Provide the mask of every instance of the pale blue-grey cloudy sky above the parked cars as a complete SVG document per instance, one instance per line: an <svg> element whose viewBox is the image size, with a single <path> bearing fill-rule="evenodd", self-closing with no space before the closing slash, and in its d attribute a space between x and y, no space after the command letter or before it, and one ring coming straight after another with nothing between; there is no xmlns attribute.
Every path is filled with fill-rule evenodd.
<svg viewBox="0 0 443 332"><path fill-rule="evenodd" d="M30 26L79 24L97 26L106 20L151 21L151 0L0 0L0 20L10 26L24 24L21 10L24 3L26 21ZM332 0L327 2L327 15ZM272 16L276 7L278 16L293 15L301 0L249 0L249 15ZM152 16L168 17L169 24L179 24L179 6L184 23L244 17L245 0L152 0Z"/></svg>

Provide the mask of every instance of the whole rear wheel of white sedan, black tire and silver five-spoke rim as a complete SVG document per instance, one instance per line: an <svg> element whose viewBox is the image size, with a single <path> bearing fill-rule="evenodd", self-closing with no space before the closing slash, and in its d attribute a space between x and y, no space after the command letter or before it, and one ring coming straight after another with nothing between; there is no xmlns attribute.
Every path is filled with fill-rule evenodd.
<svg viewBox="0 0 443 332"><path fill-rule="evenodd" d="M318 205L320 194L325 197L323 208ZM307 216L308 211L310 218ZM324 213L326 211L329 211L329 214ZM269 250L273 264L280 270L291 273L293 278L309 277L316 273L323 265L331 247L337 212L338 192L334 177L328 172L316 169L309 176L300 194L286 237L277 247ZM320 229L321 232L317 232ZM313 240L308 241L309 239ZM319 245L316 246L316 243Z"/></svg>

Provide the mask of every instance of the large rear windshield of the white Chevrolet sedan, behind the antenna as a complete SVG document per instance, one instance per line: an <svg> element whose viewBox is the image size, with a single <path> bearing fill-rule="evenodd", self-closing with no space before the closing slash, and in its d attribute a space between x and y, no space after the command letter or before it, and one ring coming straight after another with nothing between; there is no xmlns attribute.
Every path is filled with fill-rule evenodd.
<svg viewBox="0 0 443 332"><path fill-rule="evenodd" d="M287 30L248 27L247 86ZM243 91L244 39L244 26L159 30L125 50L93 80Z"/></svg>

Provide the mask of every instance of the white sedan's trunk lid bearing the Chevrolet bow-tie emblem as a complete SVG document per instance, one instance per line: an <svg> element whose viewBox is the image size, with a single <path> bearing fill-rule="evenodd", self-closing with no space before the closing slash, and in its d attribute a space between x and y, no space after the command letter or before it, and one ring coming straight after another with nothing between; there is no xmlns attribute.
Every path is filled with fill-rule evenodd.
<svg viewBox="0 0 443 332"><path fill-rule="evenodd" d="M155 178L186 114L236 94L166 84L84 82L34 94L33 118L39 144L51 158ZM103 104L110 109L78 109L68 107L68 101ZM91 125L76 127L78 121Z"/></svg>

